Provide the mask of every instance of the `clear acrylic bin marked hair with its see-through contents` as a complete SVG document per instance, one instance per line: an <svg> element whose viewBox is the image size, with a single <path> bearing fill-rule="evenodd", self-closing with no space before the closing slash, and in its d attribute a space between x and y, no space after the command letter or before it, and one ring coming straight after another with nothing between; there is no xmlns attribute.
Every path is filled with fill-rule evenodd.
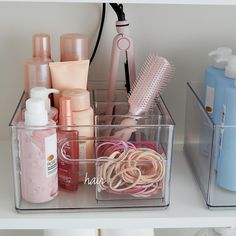
<svg viewBox="0 0 236 236"><path fill-rule="evenodd" d="M169 206L175 124L162 98L149 112L132 116L125 91L117 90L113 103L106 102L106 92L90 91L94 125L89 126L26 126L22 96L10 124L17 211ZM107 106L112 115L106 115Z"/></svg>

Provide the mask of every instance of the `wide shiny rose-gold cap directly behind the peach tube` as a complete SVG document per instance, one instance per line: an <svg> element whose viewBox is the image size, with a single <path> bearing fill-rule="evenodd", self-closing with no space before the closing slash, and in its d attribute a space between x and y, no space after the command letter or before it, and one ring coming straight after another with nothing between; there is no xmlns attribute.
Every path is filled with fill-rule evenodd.
<svg viewBox="0 0 236 236"><path fill-rule="evenodd" d="M61 61L88 60L88 36L63 34L60 38Z"/></svg>

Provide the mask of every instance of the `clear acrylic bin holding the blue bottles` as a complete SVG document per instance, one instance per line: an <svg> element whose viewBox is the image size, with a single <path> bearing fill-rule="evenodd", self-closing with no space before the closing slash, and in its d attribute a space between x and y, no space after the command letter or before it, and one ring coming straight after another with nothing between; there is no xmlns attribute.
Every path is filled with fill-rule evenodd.
<svg viewBox="0 0 236 236"><path fill-rule="evenodd" d="M207 206L236 207L236 124L215 124L203 101L203 84L188 83L184 150Z"/></svg>

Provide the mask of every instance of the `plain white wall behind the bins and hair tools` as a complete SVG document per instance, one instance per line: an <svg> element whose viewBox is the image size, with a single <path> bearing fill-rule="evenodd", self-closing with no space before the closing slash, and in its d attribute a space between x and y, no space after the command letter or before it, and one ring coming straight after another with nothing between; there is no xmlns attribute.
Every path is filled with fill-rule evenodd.
<svg viewBox="0 0 236 236"><path fill-rule="evenodd" d="M93 79L107 78L116 21L111 8L107 10L101 46L91 66ZM151 52L159 52L176 65L176 78L164 98L177 123L176 140L181 141L186 81L203 79L211 49L227 45L236 52L236 6L125 5L125 12L137 68ZM57 60L59 35L85 32L93 42L99 17L99 4L0 3L0 139L9 138L7 126L23 90L23 62L31 56L32 34L51 34Z"/></svg>

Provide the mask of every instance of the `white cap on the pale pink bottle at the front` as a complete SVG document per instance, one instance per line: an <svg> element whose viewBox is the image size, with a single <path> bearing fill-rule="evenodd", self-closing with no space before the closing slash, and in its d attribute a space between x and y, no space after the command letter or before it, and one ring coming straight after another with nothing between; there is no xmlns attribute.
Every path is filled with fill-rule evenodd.
<svg viewBox="0 0 236 236"><path fill-rule="evenodd" d="M29 98L26 101L25 124L35 126L48 124L48 113L43 99Z"/></svg>

